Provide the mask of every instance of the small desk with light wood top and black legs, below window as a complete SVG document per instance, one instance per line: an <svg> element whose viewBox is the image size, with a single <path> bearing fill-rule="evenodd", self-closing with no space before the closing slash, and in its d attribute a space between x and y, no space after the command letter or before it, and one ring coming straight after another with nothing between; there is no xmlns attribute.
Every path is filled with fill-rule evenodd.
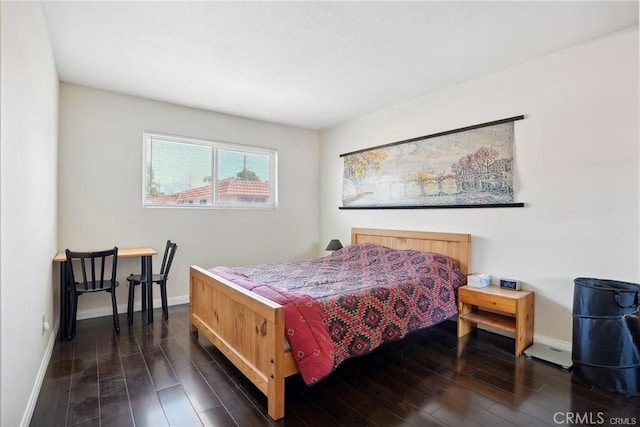
<svg viewBox="0 0 640 427"><path fill-rule="evenodd" d="M138 258L140 257L141 274L145 272L153 273L152 259L158 252L149 247L138 248L118 248L118 258ZM67 293L67 255L64 251L58 252L53 257L54 263L60 263L60 340L68 341L71 336L71 318L73 313L69 313L69 295ZM147 323L153 322L153 282L152 274L147 274L146 297L147 297ZM145 293L143 292L143 295Z"/></svg>

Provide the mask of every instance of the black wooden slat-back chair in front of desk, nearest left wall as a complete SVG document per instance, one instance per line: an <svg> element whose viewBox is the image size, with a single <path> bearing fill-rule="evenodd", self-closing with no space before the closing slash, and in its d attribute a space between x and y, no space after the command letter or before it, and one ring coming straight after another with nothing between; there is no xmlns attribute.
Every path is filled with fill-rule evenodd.
<svg viewBox="0 0 640 427"><path fill-rule="evenodd" d="M69 295L69 310L71 317L71 331L69 338L73 337L76 331L76 318L78 315L78 297L85 293L109 292L111 294L111 305L113 307L113 329L120 332L120 322L118 321L118 305L116 303L116 272L118 267L118 248L94 252L74 252L69 249L67 255L67 271L69 282L67 291ZM74 262L79 264L81 274L76 275L73 267ZM76 276L79 276L76 278Z"/></svg>

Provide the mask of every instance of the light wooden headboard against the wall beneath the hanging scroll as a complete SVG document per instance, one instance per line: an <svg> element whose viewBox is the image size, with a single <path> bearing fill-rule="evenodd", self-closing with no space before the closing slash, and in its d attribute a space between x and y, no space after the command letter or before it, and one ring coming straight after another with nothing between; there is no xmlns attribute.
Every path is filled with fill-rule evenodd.
<svg viewBox="0 0 640 427"><path fill-rule="evenodd" d="M357 243L447 255L456 261L465 279L471 266L471 234L352 228L351 244Z"/></svg>

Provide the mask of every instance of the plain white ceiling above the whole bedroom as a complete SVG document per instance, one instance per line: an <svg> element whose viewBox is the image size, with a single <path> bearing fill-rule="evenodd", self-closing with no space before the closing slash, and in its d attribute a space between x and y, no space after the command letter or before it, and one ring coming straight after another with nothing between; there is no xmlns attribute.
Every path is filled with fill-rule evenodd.
<svg viewBox="0 0 640 427"><path fill-rule="evenodd" d="M60 80L321 130L637 25L638 2L42 2Z"/></svg>

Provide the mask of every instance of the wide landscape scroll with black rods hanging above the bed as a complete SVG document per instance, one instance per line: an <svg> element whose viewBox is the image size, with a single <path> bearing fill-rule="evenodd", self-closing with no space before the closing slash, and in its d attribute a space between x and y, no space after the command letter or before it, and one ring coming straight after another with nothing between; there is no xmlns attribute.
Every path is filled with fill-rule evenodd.
<svg viewBox="0 0 640 427"><path fill-rule="evenodd" d="M341 154L340 209L522 207L510 117Z"/></svg>

